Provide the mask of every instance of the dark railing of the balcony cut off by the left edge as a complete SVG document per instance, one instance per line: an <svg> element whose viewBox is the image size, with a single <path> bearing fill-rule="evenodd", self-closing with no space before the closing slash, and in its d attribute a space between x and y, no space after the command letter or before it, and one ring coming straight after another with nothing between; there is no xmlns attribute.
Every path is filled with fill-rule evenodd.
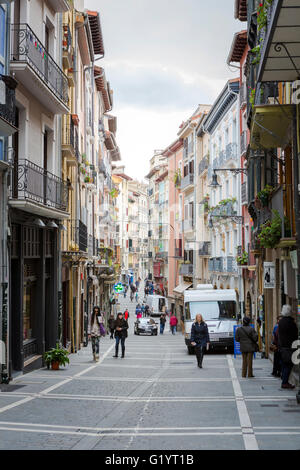
<svg viewBox="0 0 300 470"><path fill-rule="evenodd" d="M7 75L0 75L0 119L4 119L10 126L16 124L16 81ZM6 133L1 132L1 135Z"/></svg>

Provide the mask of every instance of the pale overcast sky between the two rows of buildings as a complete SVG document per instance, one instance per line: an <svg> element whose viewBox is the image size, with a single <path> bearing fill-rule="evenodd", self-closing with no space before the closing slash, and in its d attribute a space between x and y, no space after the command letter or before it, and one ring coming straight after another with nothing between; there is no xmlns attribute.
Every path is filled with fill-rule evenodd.
<svg viewBox="0 0 300 470"><path fill-rule="evenodd" d="M143 179L155 149L177 138L198 104L212 104L237 76L226 59L234 0L85 0L100 12L117 142L129 176Z"/></svg>

